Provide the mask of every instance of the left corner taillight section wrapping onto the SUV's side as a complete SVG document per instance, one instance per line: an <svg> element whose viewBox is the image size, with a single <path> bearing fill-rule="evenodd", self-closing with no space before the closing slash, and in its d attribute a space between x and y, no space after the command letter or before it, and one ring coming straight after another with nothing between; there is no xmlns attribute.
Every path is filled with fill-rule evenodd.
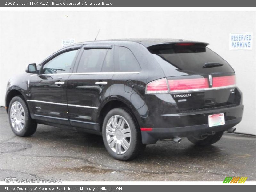
<svg viewBox="0 0 256 192"><path fill-rule="evenodd" d="M146 86L147 94L158 94L158 93L168 93L168 85L166 79L159 79L152 81Z"/></svg>

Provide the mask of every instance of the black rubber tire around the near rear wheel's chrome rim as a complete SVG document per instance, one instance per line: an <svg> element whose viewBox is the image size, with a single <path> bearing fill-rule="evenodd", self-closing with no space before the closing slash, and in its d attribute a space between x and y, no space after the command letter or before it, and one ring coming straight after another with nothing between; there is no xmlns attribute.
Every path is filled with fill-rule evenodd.
<svg viewBox="0 0 256 192"><path fill-rule="evenodd" d="M107 141L106 128L107 128L108 120L112 116L116 116L116 115L122 116L129 124L130 130L131 130L131 138L129 140L130 146L124 154L115 153L109 147L108 141ZM108 153L112 157L114 157L115 159L118 159L118 160L122 160L122 161L132 160L135 157L137 157L140 153L142 153L146 147L146 145L142 144L141 133L140 133L140 130L136 123L135 118L133 117L132 113L129 110L127 110L126 108L114 108L108 112L108 114L105 116L104 121L103 121L102 136L103 136L104 145L105 145Z"/></svg>

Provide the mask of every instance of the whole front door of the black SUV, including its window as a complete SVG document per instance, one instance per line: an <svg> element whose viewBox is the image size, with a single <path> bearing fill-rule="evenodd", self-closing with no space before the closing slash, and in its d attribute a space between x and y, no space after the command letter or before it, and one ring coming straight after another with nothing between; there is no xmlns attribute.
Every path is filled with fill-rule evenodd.
<svg viewBox="0 0 256 192"><path fill-rule="evenodd" d="M67 80L78 48L67 49L40 64L39 74L31 75L27 100L32 118L70 125L67 106Z"/></svg>

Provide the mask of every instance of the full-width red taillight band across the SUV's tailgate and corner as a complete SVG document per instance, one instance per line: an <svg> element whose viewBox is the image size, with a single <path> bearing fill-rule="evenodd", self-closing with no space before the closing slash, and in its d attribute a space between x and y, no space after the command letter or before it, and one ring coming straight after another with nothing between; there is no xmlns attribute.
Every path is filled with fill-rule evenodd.
<svg viewBox="0 0 256 192"><path fill-rule="evenodd" d="M146 94L195 92L236 86L236 78L234 75L213 77L212 86L209 85L210 81L211 80L208 80L208 78L158 79L147 84Z"/></svg>

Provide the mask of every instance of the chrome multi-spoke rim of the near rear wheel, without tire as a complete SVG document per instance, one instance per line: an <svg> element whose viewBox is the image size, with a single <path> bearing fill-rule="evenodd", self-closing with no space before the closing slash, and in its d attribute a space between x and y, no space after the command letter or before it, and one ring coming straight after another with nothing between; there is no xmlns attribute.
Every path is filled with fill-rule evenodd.
<svg viewBox="0 0 256 192"><path fill-rule="evenodd" d="M116 154L124 154L130 147L131 129L124 117L114 115L110 117L106 126L108 146Z"/></svg>

